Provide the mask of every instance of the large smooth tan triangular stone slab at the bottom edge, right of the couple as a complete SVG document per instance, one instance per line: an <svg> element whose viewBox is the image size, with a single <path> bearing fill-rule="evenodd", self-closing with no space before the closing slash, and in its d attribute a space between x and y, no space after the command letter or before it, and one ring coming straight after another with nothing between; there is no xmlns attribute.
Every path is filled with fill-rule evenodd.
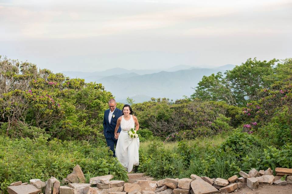
<svg viewBox="0 0 292 194"><path fill-rule="evenodd" d="M191 182L193 194L211 194L219 192L214 186L201 179L200 176L191 175L191 178L193 179Z"/></svg>

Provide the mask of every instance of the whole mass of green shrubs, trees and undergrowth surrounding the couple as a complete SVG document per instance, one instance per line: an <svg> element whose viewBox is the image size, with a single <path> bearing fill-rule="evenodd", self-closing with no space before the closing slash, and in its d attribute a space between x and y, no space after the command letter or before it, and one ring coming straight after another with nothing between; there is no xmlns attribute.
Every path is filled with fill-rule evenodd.
<svg viewBox="0 0 292 194"><path fill-rule="evenodd" d="M189 72L195 71L181 73ZM102 134L113 97L102 84L5 57L0 73L2 193L17 180L62 179L76 164L87 179L113 174L127 180ZM135 172L228 178L251 168L292 168L292 59L248 59L203 76L193 92L176 101L127 99L141 126Z"/></svg>

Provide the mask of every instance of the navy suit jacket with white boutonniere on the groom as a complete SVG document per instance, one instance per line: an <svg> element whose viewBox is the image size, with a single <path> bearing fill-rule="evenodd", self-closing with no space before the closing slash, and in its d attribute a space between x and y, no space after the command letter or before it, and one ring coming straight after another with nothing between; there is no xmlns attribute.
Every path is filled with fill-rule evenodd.
<svg viewBox="0 0 292 194"><path fill-rule="evenodd" d="M107 109L104 112L104 116L103 116L103 134L104 137L106 139L115 139L115 128L116 128L116 122L118 120L118 118L122 115L122 111L118 108L116 108L113 112L113 115L115 115L115 117L112 117L110 123L109 123L109 111L110 109ZM118 133L121 132L121 126L119 127Z"/></svg>

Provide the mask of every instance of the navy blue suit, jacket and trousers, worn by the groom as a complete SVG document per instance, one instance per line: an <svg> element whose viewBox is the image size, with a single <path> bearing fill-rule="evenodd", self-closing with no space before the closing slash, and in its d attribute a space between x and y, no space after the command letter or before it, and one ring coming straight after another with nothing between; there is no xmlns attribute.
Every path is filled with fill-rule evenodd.
<svg viewBox="0 0 292 194"><path fill-rule="evenodd" d="M116 157L115 144L117 143L118 140L115 139L115 128L116 128L116 122L123 112L120 109L116 108L113 111L113 115L115 115L115 117L112 117L109 123L109 111L110 109L107 109L104 112L103 135L106 138L107 146L113 151L113 157ZM117 133L120 133L120 132L121 132L121 127L119 127Z"/></svg>

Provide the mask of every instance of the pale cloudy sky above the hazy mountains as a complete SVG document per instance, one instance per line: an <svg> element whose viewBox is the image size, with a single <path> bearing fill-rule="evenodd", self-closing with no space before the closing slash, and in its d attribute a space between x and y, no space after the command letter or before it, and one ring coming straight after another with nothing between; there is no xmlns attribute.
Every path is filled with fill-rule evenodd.
<svg viewBox="0 0 292 194"><path fill-rule="evenodd" d="M54 72L292 57L292 0L0 0L0 55Z"/></svg>

